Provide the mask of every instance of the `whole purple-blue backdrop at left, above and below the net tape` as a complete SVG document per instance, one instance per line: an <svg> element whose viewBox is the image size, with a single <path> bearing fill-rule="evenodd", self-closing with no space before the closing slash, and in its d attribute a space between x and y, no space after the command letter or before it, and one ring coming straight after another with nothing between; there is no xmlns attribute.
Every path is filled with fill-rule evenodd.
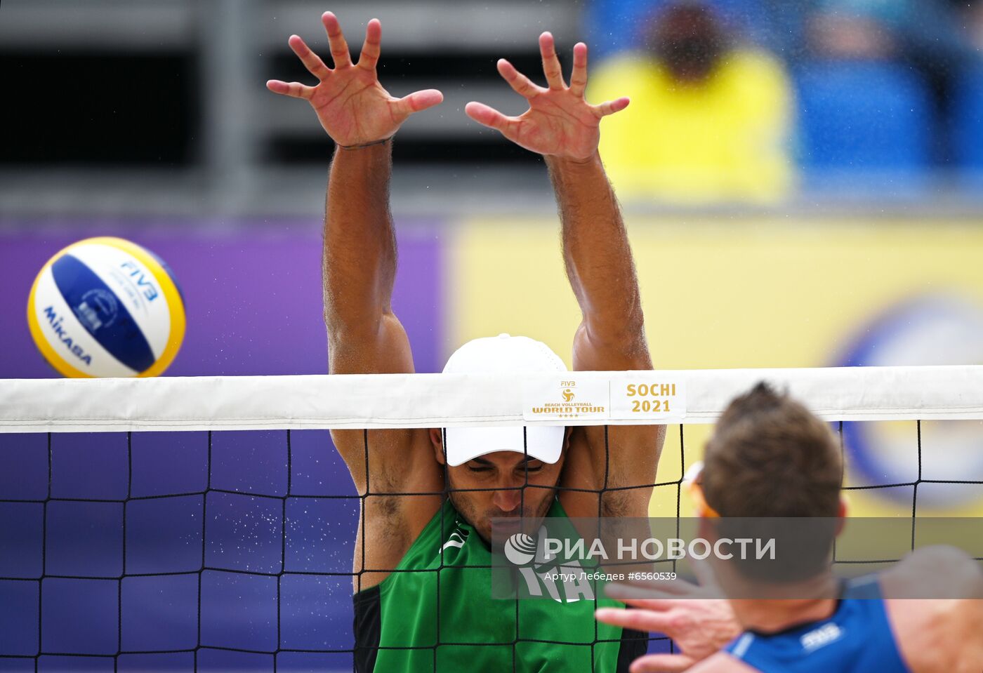
<svg viewBox="0 0 983 673"><path fill-rule="evenodd" d="M417 369L439 370L438 228L402 224L393 307ZM58 375L31 341L30 283L97 235L155 252L182 286L188 331L166 375L327 371L317 222L18 223L0 233L0 378ZM274 656L277 670L351 670L350 654L260 653L353 643L358 496L328 432L127 439L0 434L0 671L33 671L38 651L45 671L268 671Z"/></svg>

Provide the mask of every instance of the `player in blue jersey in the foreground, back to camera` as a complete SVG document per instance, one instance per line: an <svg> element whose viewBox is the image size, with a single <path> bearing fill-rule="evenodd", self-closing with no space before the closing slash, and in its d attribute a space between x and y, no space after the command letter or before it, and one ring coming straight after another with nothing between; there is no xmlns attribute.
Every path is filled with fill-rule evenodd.
<svg viewBox="0 0 983 673"><path fill-rule="evenodd" d="M701 516L714 521L830 521L845 516L841 480L838 441L829 425L798 402L759 384L731 402L718 421L694 488L695 500ZM834 534L831 529L824 540L830 553ZM817 558L819 563L810 565ZM817 555L793 564L792 571L801 577L783 584L781 594L794 599L742 597L727 607L723 600L692 600L658 586L650 588L659 595L651 599L639 598L637 588L610 586L609 594L648 609L602 609L598 618L664 631L673 620L691 616L697 609L694 604L714 615L715 628L705 630L702 639L690 633L681 654L642 657L632 665L632 673L983 671L983 573L964 553L924 547L890 570L845 583L834 577L828 558ZM724 593L730 588L741 596L774 595L776 584L754 577L746 566L742 570L736 563L717 561L715 567ZM911 595L947 598L891 597ZM731 640L738 632L742 633ZM708 658L697 663L702 657Z"/></svg>

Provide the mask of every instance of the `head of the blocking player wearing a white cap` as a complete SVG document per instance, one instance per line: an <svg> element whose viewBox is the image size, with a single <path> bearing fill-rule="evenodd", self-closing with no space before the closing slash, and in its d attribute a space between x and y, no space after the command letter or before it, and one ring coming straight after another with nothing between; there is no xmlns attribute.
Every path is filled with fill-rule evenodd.
<svg viewBox="0 0 983 673"><path fill-rule="evenodd" d="M500 334L464 344L444 373L566 371L549 347ZM432 429L436 460L447 467L451 502L486 539L492 519L546 516L563 468L568 433L562 426L446 427Z"/></svg>

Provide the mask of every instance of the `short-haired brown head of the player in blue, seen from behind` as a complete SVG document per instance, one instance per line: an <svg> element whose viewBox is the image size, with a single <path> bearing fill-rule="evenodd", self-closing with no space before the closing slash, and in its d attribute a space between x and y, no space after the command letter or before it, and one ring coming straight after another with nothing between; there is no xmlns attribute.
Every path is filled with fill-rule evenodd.
<svg viewBox="0 0 983 673"><path fill-rule="evenodd" d="M822 582L845 513L841 481L827 423L765 383L734 399L707 442L694 487L702 530L717 539L771 539L780 551L718 564L722 586L740 596L748 587L758 588L752 595L763 585L794 593L799 583Z"/></svg>

